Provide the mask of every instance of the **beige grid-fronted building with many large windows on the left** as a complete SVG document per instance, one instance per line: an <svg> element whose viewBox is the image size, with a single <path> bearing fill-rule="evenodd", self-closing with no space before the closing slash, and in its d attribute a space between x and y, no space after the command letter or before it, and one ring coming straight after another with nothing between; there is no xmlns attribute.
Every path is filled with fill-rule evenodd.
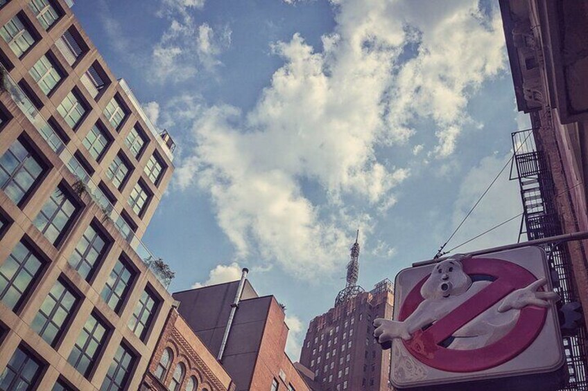
<svg viewBox="0 0 588 391"><path fill-rule="evenodd" d="M0 0L0 389L137 390L173 303L173 171L67 0Z"/></svg>

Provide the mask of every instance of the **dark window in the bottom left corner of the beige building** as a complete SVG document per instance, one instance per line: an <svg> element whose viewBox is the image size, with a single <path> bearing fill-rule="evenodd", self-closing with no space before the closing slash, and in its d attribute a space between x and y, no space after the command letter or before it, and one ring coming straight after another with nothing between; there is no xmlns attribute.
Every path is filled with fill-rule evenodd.
<svg viewBox="0 0 588 391"><path fill-rule="evenodd" d="M41 370L41 363L32 354L17 347L0 376L0 390L34 390Z"/></svg>

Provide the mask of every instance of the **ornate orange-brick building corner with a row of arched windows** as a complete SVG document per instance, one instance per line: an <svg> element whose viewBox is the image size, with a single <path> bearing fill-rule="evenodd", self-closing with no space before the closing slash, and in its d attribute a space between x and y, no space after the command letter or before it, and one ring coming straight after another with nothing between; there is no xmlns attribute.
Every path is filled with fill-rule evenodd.
<svg viewBox="0 0 588 391"><path fill-rule="evenodd" d="M176 309L169 313L141 390L232 391L235 385L216 356Z"/></svg>

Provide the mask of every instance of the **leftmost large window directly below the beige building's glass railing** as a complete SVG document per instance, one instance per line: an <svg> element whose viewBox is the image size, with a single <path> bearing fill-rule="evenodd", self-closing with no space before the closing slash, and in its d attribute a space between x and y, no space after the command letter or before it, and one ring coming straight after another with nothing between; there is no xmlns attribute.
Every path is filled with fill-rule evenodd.
<svg viewBox="0 0 588 391"><path fill-rule="evenodd" d="M0 158L0 188L19 205L44 171L28 145L15 140Z"/></svg>

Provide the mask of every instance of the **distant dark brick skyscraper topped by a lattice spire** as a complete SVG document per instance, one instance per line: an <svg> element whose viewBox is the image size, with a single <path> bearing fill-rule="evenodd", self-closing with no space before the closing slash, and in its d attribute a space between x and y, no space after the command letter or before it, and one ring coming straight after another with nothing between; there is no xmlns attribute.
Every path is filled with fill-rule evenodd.
<svg viewBox="0 0 588 391"><path fill-rule="evenodd" d="M392 318L394 288L390 280L366 292L357 285L359 244L351 248L347 285L335 306L311 320L300 364L309 368L315 389L390 390L390 351L373 337L375 318Z"/></svg>

